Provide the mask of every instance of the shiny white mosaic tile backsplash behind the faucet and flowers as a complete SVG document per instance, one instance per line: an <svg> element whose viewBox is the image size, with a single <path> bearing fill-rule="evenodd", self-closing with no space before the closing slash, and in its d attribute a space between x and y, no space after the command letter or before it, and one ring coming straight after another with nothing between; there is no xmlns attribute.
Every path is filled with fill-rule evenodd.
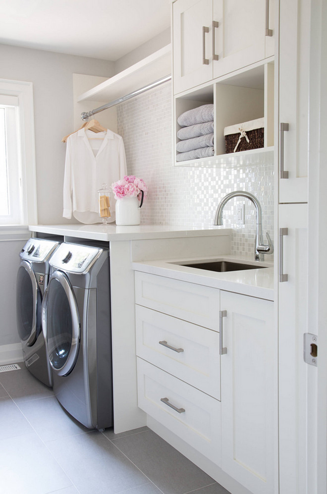
<svg viewBox="0 0 327 494"><path fill-rule="evenodd" d="M263 231L273 237L273 160L248 158L231 169L173 166L171 83L117 107L118 134L123 137L128 174L144 179L149 192L142 206L144 224L211 226L219 201L234 190L246 190L260 201ZM236 224L236 205L245 204L245 224ZM256 214L244 198L230 200L223 224L234 229L232 254L251 257ZM272 256L267 256L268 261Z"/></svg>

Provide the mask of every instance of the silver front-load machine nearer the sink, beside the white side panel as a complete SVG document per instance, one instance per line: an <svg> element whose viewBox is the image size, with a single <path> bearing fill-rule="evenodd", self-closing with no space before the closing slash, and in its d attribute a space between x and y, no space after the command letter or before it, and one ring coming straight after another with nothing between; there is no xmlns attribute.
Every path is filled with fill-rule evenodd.
<svg viewBox="0 0 327 494"><path fill-rule="evenodd" d="M54 394L89 429L113 425L109 250L63 242L50 259L42 326Z"/></svg>

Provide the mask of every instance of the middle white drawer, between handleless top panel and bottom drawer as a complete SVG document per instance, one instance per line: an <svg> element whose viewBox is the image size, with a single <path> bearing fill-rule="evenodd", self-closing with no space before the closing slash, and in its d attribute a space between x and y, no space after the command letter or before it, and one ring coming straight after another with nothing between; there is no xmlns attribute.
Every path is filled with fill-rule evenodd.
<svg viewBox="0 0 327 494"><path fill-rule="evenodd" d="M220 399L219 333L139 305L135 312L137 356Z"/></svg>

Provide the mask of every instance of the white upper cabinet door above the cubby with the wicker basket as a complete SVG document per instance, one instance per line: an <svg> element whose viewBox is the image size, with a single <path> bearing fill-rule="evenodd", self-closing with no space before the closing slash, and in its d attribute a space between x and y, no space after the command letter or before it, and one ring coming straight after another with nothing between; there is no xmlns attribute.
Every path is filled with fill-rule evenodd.
<svg viewBox="0 0 327 494"><path fill-rule="evenodd" d="M213 8L214 78L265 58L265 1L214 0Z"/></svg>

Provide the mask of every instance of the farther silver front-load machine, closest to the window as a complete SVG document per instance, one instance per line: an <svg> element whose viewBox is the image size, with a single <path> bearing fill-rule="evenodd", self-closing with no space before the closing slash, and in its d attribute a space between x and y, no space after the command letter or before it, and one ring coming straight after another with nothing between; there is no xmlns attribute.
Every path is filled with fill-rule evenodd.
<svg viewBox="0 0 327 494"><path fill-rule="evenodd" d="M52 386L51 370L42 331L41 304L50 273L49 259L59 242L30 238L22 248L16 281L16 320L27 369Z"/></svg>

